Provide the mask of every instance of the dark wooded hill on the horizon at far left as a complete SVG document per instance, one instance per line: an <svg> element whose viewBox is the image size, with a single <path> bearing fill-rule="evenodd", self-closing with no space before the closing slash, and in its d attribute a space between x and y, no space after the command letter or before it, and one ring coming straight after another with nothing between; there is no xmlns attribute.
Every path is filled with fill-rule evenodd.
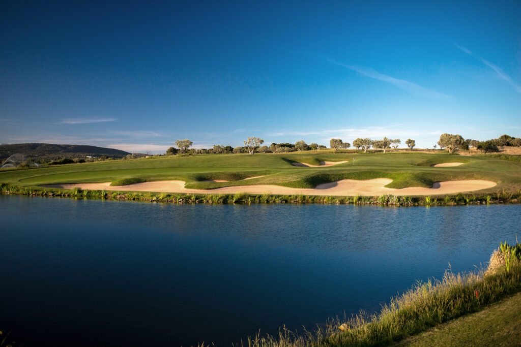
<svg viewBox="0 0 521 347"><path fill-rule="evenodd" d="M14 144L0 146L0 159L2 160L16 153L36 160L73 159L86 156L122 158L131 154L114 148L85 145Z"/></svg>

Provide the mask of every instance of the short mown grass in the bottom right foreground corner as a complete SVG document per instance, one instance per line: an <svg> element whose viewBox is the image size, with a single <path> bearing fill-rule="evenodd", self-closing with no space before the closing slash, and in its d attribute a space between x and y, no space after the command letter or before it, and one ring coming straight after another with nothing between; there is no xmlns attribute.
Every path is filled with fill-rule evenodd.
<svg viewBox="0 0 521 347"><path fill-rule="evenodd" d="M394 346L519 346L521 293L407 338Z"/></svg>

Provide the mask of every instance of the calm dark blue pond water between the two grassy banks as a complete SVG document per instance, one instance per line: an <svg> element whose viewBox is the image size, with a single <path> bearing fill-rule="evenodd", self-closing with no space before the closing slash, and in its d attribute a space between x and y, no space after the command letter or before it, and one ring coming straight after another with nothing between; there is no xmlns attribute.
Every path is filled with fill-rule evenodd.
<svg viewBox="0 0 521 347"><path fill-rule="evenodd" d="M31 345L231 345L378 310L521 238L521 205L171 205L0 196L0 328Z"/></svg>

